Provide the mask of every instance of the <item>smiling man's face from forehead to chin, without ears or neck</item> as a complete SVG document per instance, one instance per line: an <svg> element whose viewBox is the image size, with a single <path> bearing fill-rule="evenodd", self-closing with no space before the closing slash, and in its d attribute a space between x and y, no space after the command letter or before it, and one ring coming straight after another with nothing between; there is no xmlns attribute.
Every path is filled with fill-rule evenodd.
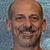
<svg viewBox="0 0 50 50"><path fill-rule="evenodd" d="M21 46L32 46L41 35L42 19L37 5L19 4L13 8L11 30Z"/></svg>

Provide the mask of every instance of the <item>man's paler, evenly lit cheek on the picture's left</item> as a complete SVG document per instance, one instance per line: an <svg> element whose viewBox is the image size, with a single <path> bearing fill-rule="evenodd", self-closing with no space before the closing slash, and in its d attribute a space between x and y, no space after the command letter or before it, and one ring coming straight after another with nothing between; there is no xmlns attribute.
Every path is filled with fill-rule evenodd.
<svg viewBox="0 0 50 50"><path fill-rule="evenodd" d="M21 27L21 25L25 25L24 22L16 22L16 21L13 21L12 22L12 32L15 36L18 36L19 35L19 30L18 28Z"/></svg>

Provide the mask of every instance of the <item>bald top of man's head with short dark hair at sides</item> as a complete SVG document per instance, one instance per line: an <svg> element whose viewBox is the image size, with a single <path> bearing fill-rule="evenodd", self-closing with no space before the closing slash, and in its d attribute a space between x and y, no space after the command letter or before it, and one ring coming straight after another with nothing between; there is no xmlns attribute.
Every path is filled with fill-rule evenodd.
<svg viewBox="0 0 50 50"><path fill-rule="evenodd" d="M23 10L26 10L26 9L38 9L37 11L39 11L40 13L40 16L42 18L43 16L43 10L42 10L42 6L35 0L15 0L10 6L9 6L9 9L8 9L8 16L9 18L11 19L13 14L15 13L14 11L17 11L18 12L18 9L19 11L22 9Z"/></svg>

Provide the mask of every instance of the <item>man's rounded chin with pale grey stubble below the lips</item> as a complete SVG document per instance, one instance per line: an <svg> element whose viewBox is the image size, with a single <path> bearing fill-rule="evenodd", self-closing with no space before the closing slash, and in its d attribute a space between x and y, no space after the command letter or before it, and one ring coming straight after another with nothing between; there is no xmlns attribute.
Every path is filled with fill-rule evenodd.
<svg viewBox="0 0 50 50"><path fill-rule="evenodd" d="M35 44L35 37L31 39L23 39L22 37L18 37L18 43L22 47L32 47Z"/></svg>

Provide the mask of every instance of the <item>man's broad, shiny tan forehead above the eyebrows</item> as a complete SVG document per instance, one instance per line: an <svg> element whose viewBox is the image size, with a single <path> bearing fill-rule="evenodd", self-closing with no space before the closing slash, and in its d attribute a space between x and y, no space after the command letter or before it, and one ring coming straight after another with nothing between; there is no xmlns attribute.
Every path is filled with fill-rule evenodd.
<svg viewBox="0 0 50 50"><path fill-rule="evenodd" d="M11 10L15 14L39 14L40 6L36 2L21 1L14 2L14 4L11 6Z"/></svg>

